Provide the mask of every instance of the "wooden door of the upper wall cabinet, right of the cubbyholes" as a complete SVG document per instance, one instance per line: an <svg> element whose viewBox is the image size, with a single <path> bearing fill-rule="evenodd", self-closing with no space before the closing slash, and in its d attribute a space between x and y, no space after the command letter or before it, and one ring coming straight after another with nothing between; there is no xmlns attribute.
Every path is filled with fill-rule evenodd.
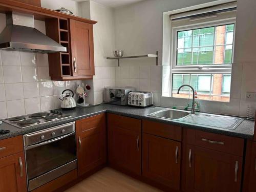
<svg viewBox="0 0 256 192"><path fill-rule="evenodd" d="M70 19L73 76L94 75L93 25Z"/></svg>

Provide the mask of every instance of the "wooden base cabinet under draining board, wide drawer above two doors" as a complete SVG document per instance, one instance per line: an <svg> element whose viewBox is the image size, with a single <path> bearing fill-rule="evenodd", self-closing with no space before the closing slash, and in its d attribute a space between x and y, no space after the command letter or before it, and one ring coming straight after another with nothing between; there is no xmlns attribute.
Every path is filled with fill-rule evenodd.
<svg viewBox="0 0 256 192"><path fill-rule="evenodd" d="M182 191L241 190L243 139L189 129L183 136Z"/></svg>

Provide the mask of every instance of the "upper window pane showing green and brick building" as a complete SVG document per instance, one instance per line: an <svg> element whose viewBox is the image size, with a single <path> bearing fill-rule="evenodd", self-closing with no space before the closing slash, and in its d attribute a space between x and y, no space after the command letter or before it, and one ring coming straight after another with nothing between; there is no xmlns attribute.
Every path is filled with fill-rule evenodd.
<svg viewBox="0 0 256 192"><path fill-rule="evenodd" d="M176 65L232 63L233 30L234 24L179 31Z"/></svg>

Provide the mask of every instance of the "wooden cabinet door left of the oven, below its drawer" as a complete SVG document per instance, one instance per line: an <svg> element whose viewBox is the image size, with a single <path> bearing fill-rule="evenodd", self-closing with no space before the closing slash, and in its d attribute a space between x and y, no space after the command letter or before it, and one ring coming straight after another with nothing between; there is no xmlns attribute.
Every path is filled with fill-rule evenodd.
<svg viewBox="0 0 256 192"><path fill-rule="evenodd" d="M0 191L27 191L24 153L0 159Z"/></svg>

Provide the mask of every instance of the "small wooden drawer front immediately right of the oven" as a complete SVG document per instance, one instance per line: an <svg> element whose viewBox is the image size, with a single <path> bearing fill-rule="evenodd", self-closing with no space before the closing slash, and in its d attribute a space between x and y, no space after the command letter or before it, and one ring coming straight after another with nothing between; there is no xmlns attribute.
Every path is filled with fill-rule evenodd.
<svg viewBox="0 0 256 192"><path fill-rule="evenodd" d="M79 134L95 134L97 132L105 132L105 114L99 114L92 117L80 119L76 121L76 132ZM103 130L101 130L103 128ZM104 133L103 133L104 134Z"/></svg>

